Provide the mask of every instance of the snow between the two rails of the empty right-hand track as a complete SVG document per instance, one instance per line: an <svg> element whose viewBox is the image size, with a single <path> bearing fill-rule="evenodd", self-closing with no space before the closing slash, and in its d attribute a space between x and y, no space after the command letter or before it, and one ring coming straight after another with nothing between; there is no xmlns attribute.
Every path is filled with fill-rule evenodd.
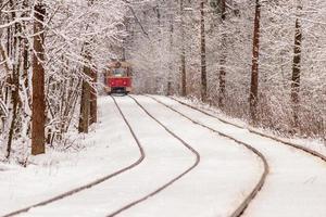
<svg viewBox="0 0 326 217"><path fill-rule="evenodd" d="M326 216L326 163L246 129L221 123L165 97L161 102L211 128L250 142L267 158L271 174L243 216L248 217L321 217Z"/></svg>

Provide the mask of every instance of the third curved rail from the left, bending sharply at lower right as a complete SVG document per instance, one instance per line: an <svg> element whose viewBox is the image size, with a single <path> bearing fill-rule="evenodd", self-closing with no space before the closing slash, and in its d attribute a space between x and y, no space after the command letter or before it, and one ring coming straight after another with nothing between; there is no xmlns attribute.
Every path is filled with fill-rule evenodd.
<svg viewBox="0 0 326 217"><path fill-rule="evenodd" d="M201 124L201 123L199 123L199 122L196 122L195 119L191 119L191 118L188 117L187 115L180 113L179 111L173 108L173 107L170 106L170 105L166 105L165 103L161 102L160 100L158 100L158 99L155 99L155 98L153 98L153 97L151 97L151 95L146 95L146 97L153 99L153 100L156 101L158 103L160 103L160 104L164 105L165 107L167 107L167 108L174 111L175 113L177 113L177 114L179 114L180 116L187 118L188 120L192 122L193 124L199 125L199 126L201 126L201 127L204 127L204 128L206 128L206 129L209 129L209 130L211 130L211 131L213 131L213 132L215 132L215 133L218 133L218 135L222 136L222 137L225 137L225 138L227 138L227 139L230 139L230 140L233 140L233 141L235 141L235 142L237 142L237 143L239 143L239 144L246 146L248 150L250 150L251 152L253 152L256 156L259 156L259 157L261 158L261 161L262 161L263 164L264 164L264 173L262 174L262 176L261 176L259 182L255 184L255 187L254 187L253 190L249 193L249 195L242 201L242 203L236 208L236 210L234 210L234 212L231 213L231 215L229 215L229 217L239 217L239 216L241 216L241 215L243 214L243 212L246 210L246 208L248 207L248 205L250 204L250 202L255 197L255 195L259 193L259 191L263 188L263 186L264 186L264 183L265 183L266 177L267 177L267 175L268 175L268 173L269 173L269 166L268 166L268 163L267 163L266 157L265 157L259 150L256 150L255 148L251 146L250 144L247 144L247 143L244 143L244 142L242 142L242 141L240 141L240 140L238 140L238 139L235 139L235 138L233 138L233 137L230 137L230 136L228 136L228 135L225 135L225 133L223 133L223 132L221 132L221 131L218 131L218 130L216 130L216 129L213 129L213 128L211 128L211 127L209 127L209 126L205 126L205 125L203 125L203 124Z"/></svg>

